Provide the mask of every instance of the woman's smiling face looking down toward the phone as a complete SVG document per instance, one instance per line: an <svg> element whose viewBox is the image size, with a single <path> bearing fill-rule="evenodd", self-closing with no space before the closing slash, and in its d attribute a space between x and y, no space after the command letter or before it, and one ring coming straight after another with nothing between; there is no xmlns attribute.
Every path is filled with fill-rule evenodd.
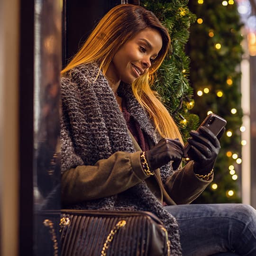
<svg viewBox="0 0 256 256"><path fill-rule="evenodd" d="M134 82L147 72L161 48L162 37L157 30L142 30L114 55L106 72L107 77L114 83L120 80L126 83Z"/></svg>

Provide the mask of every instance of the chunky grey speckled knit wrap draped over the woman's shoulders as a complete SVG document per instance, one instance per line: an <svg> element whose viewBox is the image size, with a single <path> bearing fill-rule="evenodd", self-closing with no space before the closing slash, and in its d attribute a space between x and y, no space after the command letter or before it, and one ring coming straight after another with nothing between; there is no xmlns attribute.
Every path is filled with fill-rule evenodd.
<svg viewBox="0 0 256 256"><path fill-rule="evenodd" d="M117 151L135 152L114 93L104 75L99 73L96 64L73 68L61 82L62 173L78 165L95 165L98 160L107 159ZM131 86L120 85L119 93L125 97L131 116L152 142L157 144L160 136L155 132L148 114L134 97ZM174 171L172 165L168 164L161 167L160 172L165 184L167 177ZM171 255L182 255L176 219L164 209L144 181L125 192L103 199L83 201L70 208L150 211L164 222L168 230Z"/></svg>

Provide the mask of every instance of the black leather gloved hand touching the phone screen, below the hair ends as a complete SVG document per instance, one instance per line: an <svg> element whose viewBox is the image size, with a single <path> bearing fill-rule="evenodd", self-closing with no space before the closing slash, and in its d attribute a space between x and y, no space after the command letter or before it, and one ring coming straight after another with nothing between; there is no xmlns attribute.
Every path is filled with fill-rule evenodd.
<svg viewBox="0 0 256 256"><path fill-rule="evenodd" d="M150 170L155 170L170 161L176 170L183 157L183 145L179 139L163 138L152 149L145 152L146 161Z"/></svg>

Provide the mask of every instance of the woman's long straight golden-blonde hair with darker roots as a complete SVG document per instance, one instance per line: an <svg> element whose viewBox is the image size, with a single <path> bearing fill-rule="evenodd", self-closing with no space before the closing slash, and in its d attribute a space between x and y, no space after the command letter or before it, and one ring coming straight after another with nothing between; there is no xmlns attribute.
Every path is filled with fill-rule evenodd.
<svg viewBox="0 0 256 256"><path fill-rule="evenodd" d="M148 111L159 134L162 137L179 138L182 141L174 120L161 103L158 94L150 88L154 82L154 74L162 64L171 41L168 31L151 11L130 4L120 4L111 9L61 74L65 75L81 64L98 62L100 70L105 75L120 47L147 27L154 28L161 34L163 46L148 72L132 83L132 90L137 101Z"/></svg>

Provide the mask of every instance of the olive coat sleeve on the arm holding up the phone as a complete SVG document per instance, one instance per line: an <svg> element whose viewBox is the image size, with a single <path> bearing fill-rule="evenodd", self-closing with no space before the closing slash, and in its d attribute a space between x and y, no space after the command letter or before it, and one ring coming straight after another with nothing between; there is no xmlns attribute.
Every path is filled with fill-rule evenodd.
<svg viewBox="0 0 256 256"><path fill-rule="evenodd" d="M193 161L171 175L165 190L176 204L188 204L195 200L212 182L213 174L208 181L198 178L193 171Z"/></svg>

